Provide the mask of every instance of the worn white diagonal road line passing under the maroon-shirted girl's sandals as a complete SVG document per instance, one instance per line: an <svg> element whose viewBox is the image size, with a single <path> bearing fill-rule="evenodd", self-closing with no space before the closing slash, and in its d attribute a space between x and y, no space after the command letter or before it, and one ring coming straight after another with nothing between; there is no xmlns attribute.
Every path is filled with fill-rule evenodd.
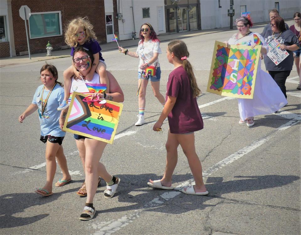
<svg viewBox="0 0 301 235"><path fill-rule="evenodd" d="M248 145L237 152L231 154L230 156L224 158L223 160L219 161L218 163L214 164L212 167L209 167L207 170L203 172L203 177L206 178L209 175L213 174L214 172L218 171L219 169L231 164L232 162L240 159L241 157L245 156L246 154L250 153L251 151L255 150L256 148L260 147L264 143L266 143L268 140L274 138L279 134L279 132L282 132L299 122L301 122L301 115L295 114L295 113L290 113L286 111L280 111L280 113L277 113L278 116L281 116L283 118L289 118L287 123L284 123L283 125L279 126L277 129L273 130L270 134L265 136L264 138L261 138L259 140L254 141L251 143L251 145ZM189 185L189 184L194 184L193 178L178 185L175 189L180 190L183 187ZM176 197L177 195L181 194L180 191L168 191L160 196L150 200L147 202L144 206L140 207L138 210L134 210L131 213L128 213L121 218L117 220L111 220L111 221L100 221L96 222L94 221L93 223L88 224L89 227L92 227L96 231L94 234L98 235L103 235L103 234L112 234L121 228L127 226L129 223L133 222L136 218L139 218L140 215L145 211L149 210L150 208L154 208L157 206L161 206L164 204L166 201Z"/></svg>

